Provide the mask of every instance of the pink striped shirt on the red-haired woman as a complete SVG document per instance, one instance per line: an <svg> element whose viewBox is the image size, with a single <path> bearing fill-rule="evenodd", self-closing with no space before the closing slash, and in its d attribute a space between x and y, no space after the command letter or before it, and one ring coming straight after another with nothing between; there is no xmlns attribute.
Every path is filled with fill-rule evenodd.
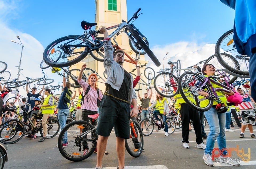
<svg viewBox="0 0 256 169"><path fill-rule="evenodd" d="M81 79L80 81L77 79L77 82L82 86L83 95L84 95L89 84L86 83L83 79ZM88 102L87 102L87 98L88 98ZM85 97L83 99L83 103L81 105L82 109L98 111L97 98L98 98L97 90L95 88L91 87L87 93L87 96L85 95ZM102 99L102 93L101 93L101 91L99 91L99 100L101 100L101 99Z"/></svg>

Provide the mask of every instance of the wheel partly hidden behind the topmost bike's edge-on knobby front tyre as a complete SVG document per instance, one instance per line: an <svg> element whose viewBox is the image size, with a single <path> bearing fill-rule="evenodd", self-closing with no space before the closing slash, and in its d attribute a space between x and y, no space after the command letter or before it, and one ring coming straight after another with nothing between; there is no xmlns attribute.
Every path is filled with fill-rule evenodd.
<svg viewBox="0 0 256 169"><path fill-rule="evenodd" d="M149 47L149 41L147 40L147 38L141 33L138 33L138 35L145 41L145 43ZM129 46L130 46L131 50L133 50L133 52L135 52L136 54L139 54L139 52L140 52L140 55L146 54L145 50L143 50L141 48L141 46L138 44L138 42L136 42L135 38L132 35L129 36L128 42L129 42Z"/></svg>

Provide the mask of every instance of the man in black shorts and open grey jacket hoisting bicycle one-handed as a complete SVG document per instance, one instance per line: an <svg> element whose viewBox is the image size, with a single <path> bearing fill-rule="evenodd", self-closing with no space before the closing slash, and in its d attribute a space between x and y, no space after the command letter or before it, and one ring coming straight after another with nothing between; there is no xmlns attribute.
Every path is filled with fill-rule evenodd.
<svg viewBox="0 0 256 169"><path fill-rule="evenodd" d="M99 29L108 36L107 29ZM103 94L99 107L99 123L96 133L99 135L97 141L97 164L95 168L102 168L102 159L107 146L107 139L111 130L115 129L116 151L118 156L118 168L125 167L125 139L130 138L130 116L136 117L137 96L133 90L133 78L123 69L124 52L118 50L113 57L113 47L109 39L104 45L104 68L107 74L106 91ZM130 104L133 109L129 112Z"/></svg>

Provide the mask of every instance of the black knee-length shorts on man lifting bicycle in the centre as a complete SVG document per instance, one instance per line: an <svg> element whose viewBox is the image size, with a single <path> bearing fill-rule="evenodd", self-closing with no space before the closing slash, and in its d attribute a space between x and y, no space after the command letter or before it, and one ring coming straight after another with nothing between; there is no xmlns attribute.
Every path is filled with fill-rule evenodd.
<svg viewBox="0 0 256 169"><path fill-rule="evenodd" d="M99 122L96 133L100 136L110 136L113 127L116 137L130 138L129 103L104 95L99 107Z"/></svg>

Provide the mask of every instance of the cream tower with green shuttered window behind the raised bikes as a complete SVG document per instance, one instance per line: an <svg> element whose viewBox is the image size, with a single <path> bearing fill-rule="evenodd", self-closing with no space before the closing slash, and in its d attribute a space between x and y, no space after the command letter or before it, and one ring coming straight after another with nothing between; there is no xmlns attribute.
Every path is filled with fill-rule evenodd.
<svg viewBox="0 0 256 169"><path fill-rule="evenodd" d="M95 0L95 22L97 23L96 30L98 30L100 27L110 27L117 25L122 22L122 20L128 21L127 19L127 6L126 6L126 0ZM135 11L134 11L135 12ZM129 16L129 19L132 16ZM88 21L89 22L89 21ZM108 32L109 34L112 33L115 29L110 29ZM99 34L99 37L103 37L102 34ZM116 36L115 39L118 43L118 46L121 47L129 56L135 58L135 52L133 52L129 46L128 42L128 36L125 33L121 33L120 35ZM115 42L111 39L112 43L115 44ZM125 56L125 59L128 59ZM145 57L143 55L140 56L139 62L141 65L144 63L147 63L148 61L145 61ZM73 68L81 69L82 64L86 63L87 68L95 70L104 80L106 80L103 76L103 62L99 62L94 60L90 54L88 54L85 59L83 59L81 62L79 62L76 65L72 66ZM126 71L131 71L135 68L135 65L129 62L125 62L123 64L123 68ZM141 68L141 73L143 73L145 67ZM137 74L137 70L133 72L135 75ZM141 74L141 78L145 79L147 82L147 79L144 77L143 74ZM98 81L98 87L103 92L105 91L105 84L100 83L102 80ZM138 85L136 88L139 88ZM142 92L140 94L144 94L146 92L147 86L140 85L140 88L142 88ZM141 95L143 96L143 95Z"/></svg>

